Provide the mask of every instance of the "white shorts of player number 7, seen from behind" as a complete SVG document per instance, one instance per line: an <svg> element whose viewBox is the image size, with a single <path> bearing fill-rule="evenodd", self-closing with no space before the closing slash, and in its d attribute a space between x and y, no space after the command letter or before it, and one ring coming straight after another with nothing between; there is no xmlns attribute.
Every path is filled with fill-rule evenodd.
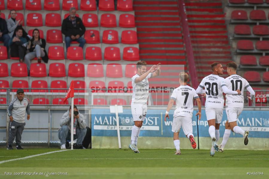
<svg viewBox="0 0 269 179"><path fill-rule="evenodd" d="M185 135L192 133L192 118L177 116L172 122L172 132L179 132L182 126Z"/></svg>

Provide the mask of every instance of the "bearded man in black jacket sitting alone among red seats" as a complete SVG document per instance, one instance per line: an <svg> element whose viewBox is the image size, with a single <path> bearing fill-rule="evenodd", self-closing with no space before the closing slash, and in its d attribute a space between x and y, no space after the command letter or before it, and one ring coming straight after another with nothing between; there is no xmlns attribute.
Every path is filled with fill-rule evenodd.
<svg viewBox="0 0 269 179"><path fill-rule="evenodd" d="M85 39L82 37L85 33L85 26L81 19L76 17L76 8L71 7L69 10L69 16L63 19L62 33L65 35L66 50L70 47L71 41L77 41L79 47L84 46Z"/></svg>

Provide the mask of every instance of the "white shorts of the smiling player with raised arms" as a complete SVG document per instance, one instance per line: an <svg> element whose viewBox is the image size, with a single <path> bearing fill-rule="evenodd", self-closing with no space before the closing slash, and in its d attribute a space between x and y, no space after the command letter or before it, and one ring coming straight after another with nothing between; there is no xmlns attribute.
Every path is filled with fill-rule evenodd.
<svg viewBox="0 0 269 179"><path fill-rule="evenodd" d="M131 104L133 121L144 121L147 114L147 104Z"/></svg>

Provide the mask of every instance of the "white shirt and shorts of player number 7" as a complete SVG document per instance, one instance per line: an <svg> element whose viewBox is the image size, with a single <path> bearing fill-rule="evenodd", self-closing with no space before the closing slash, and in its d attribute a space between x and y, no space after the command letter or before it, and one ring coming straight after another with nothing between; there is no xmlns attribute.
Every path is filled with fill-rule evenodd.
<svg viewBox="0 0 269 179"><path fill-rule="evenodd" d="M172 132L179 132L182 126L185 135L192 133L193 99L199 98L189 86L180 86L173 90L171 99L176 101Z"/></svg>

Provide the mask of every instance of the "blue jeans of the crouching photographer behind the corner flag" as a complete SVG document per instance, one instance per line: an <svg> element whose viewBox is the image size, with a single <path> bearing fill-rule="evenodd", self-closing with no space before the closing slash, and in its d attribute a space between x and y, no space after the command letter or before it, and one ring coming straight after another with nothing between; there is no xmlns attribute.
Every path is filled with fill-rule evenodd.
<svg viewBox="0 0 269 179"><path fill-rule="evenodd" d="M86 135L87 129L76 129L76 134L74 134L74 140L77 139L77 144L82 144L84 137ZM71 139L71 132L68 126L62 126L58 132L58 137L61 140L61 145L66 144L66 140Z"/></svg>

